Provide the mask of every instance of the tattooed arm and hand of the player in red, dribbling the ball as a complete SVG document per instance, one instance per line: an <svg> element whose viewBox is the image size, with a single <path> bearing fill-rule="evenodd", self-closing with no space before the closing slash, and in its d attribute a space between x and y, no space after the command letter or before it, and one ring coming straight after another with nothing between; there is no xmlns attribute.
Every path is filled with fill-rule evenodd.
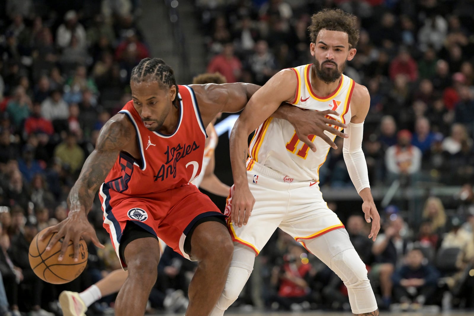
<svg viewBox="0 0 474 316"><path fill-rule="evenodd" d="M64 257L69 240L72 240L74 244L74 261L78 260L79 240L82 235L91 237L96 246L104 247L100 244L94 228L87 220L87 213L91 209L96 191L117 160L118 153L126 148L127 144L134 139L133 137L135 137L135 130L122 114L112 117L102 127L96 148L84 163L79 179L67 198L68 217L61 223L50 227L45 234L40 236L40 240L42 240L44 236L57 232L46 250L49 250L61 237L64 237L59 261Z"/></svg>

